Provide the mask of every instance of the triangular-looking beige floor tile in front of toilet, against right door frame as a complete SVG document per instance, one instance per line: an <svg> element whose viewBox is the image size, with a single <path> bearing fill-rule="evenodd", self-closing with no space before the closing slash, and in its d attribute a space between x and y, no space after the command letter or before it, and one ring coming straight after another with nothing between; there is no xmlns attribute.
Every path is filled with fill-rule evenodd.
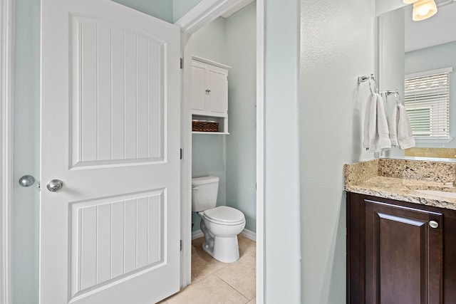
<svg viewBox="0 0 456 304"><path fill-rule="evenodd" d="M244 297L252 300L256 296L256 259L251 254L239 258L236 263L231 263L214 272L232 288L242 293Z"/></svg>

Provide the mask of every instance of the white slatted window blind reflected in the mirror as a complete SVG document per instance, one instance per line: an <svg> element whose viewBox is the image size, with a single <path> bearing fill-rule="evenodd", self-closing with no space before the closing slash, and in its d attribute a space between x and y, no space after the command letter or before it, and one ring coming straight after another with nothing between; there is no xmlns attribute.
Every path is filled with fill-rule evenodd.
<svg viewBox="0 0 456 304"><path fill-rule="evenodd" d="M414 137L450 137L450 71L405 76L404 106Z"/></svg>

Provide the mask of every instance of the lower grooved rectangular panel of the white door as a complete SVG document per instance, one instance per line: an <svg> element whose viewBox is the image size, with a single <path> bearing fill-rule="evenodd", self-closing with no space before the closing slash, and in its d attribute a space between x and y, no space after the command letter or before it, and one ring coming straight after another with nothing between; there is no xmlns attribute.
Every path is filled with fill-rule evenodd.
<svg viewBox="0 0 456 304"><path fill-rule="evenodd" d="M71 205L72 296L164 262L164 201L160 189Z"/></svg>

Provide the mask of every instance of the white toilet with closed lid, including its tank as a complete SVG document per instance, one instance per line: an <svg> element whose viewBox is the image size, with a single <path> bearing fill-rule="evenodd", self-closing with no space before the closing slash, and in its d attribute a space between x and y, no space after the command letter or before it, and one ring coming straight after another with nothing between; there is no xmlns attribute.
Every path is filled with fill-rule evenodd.
<svg viewBox="0 0 456 304"><path fill-rule="evenodd" d="M239 260L237 235L245 227L244 214L232 207L218 206L218 177L192 179L192 211L201 216L204 251L224 263Z"/></svg>

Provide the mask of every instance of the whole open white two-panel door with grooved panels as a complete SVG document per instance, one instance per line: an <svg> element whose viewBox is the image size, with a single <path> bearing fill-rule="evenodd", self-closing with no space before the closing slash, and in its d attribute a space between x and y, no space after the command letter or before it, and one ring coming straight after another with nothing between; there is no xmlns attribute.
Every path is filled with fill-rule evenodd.
<svg viewBox="0 0 456 304"><path fill-rule="evenodd" d="M180 29L41 4L40 303L155 303L180 288Z"/></svg>

